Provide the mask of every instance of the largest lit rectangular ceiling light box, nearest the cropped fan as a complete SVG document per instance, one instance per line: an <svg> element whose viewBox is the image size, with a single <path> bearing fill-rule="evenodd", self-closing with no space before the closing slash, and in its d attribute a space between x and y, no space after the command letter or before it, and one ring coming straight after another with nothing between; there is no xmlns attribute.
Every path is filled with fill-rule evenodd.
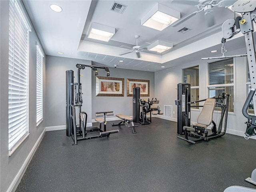
<svg viewBox="0 0 256 192"><path fill-rule="evenodd" d="M141 20L140 24L159 31L180 19L180 12L157 3Z"/></svg>

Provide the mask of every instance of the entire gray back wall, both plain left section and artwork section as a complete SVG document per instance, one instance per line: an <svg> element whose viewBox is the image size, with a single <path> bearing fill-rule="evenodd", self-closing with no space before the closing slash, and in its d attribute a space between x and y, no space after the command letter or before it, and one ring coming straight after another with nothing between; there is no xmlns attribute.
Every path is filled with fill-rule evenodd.
<svg viewBox="0 0 256 192"><path fill-rule="evenodd" d="M77 82L77 63L92 64L88 60L46 56L46 127L66 125L66 70L74 71L74 82ZM124 78L124 97L95 96L96 76L94 71L85 68L80 72L83 75L80 77L83 92L82 111L87 113L88 123L95 118L95 112L100 111L111 110L114 111L114 114L132 115L132 97L126 96L127 78L150 80L149 98L154 97L154 72L110 68L110 77ZM106 76L106 71L99 69L98 76Z"/></svg>

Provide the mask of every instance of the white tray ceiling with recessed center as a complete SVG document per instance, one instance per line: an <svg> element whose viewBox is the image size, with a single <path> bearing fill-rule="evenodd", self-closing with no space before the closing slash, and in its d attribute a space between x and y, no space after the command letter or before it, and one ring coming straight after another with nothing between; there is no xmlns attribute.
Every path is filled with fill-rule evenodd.
<svg viewBox="0 0 256 192"><path fill-rule="evenodd" d="M158 2L181 12L181 17L197 9L189 1L168 0L115 0L127 5L122 14L110 11L114 0L24 0L32 24L38 34L46 55L67 58L92 60L100 66L127 68L134 70L158 71L161 66L173 66L200 60L202 57L220 56L221 54L221 25L234 13L227 8L213 7L215 24L207 28L204 12L193 16L178 26L169 26L162 31L140 25L140 19ZM192 2L193 0L191 0ZM58 4L62 12L54 12L51 4ZM116 34L109 42L89 40L87 38L90 24L98 23L116 28ZM183 27L191 29L182 34L177 32ZM120 56L129 50L120 46L136 45L135 35L139 35L138 45L148 46L156 40L174 44L170 51L163 54L142 52L137 58L134 52ZM209 38L210 36L210 38ZM238 38L226 43L227 50L245 47L244 38ZM215 54L210 50L217 49ZM60 55L57 52L63 52ZM119 62L124 60L124 62Z"/></svg>

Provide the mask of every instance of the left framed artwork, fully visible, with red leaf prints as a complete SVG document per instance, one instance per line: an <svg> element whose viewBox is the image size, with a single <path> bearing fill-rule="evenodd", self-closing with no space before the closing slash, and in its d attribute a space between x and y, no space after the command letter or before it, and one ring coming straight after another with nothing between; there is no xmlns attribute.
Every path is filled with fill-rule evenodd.
<svg viewBox="0 0 256 192"><path fill-rule="evenodd" d="M124 96L124 78L96 76L96 96Z"/></svg>

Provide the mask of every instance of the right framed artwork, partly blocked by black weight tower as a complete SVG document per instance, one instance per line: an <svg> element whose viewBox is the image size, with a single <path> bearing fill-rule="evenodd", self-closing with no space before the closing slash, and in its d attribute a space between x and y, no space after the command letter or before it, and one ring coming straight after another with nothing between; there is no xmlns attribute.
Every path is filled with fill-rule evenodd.
<svg viewBox="0 0 256 192"><path fill-rule="evenodd" d="M134 87L140 88L140 96L149 97L149 80L127 79L127 96L132 96Z"/></svg>

